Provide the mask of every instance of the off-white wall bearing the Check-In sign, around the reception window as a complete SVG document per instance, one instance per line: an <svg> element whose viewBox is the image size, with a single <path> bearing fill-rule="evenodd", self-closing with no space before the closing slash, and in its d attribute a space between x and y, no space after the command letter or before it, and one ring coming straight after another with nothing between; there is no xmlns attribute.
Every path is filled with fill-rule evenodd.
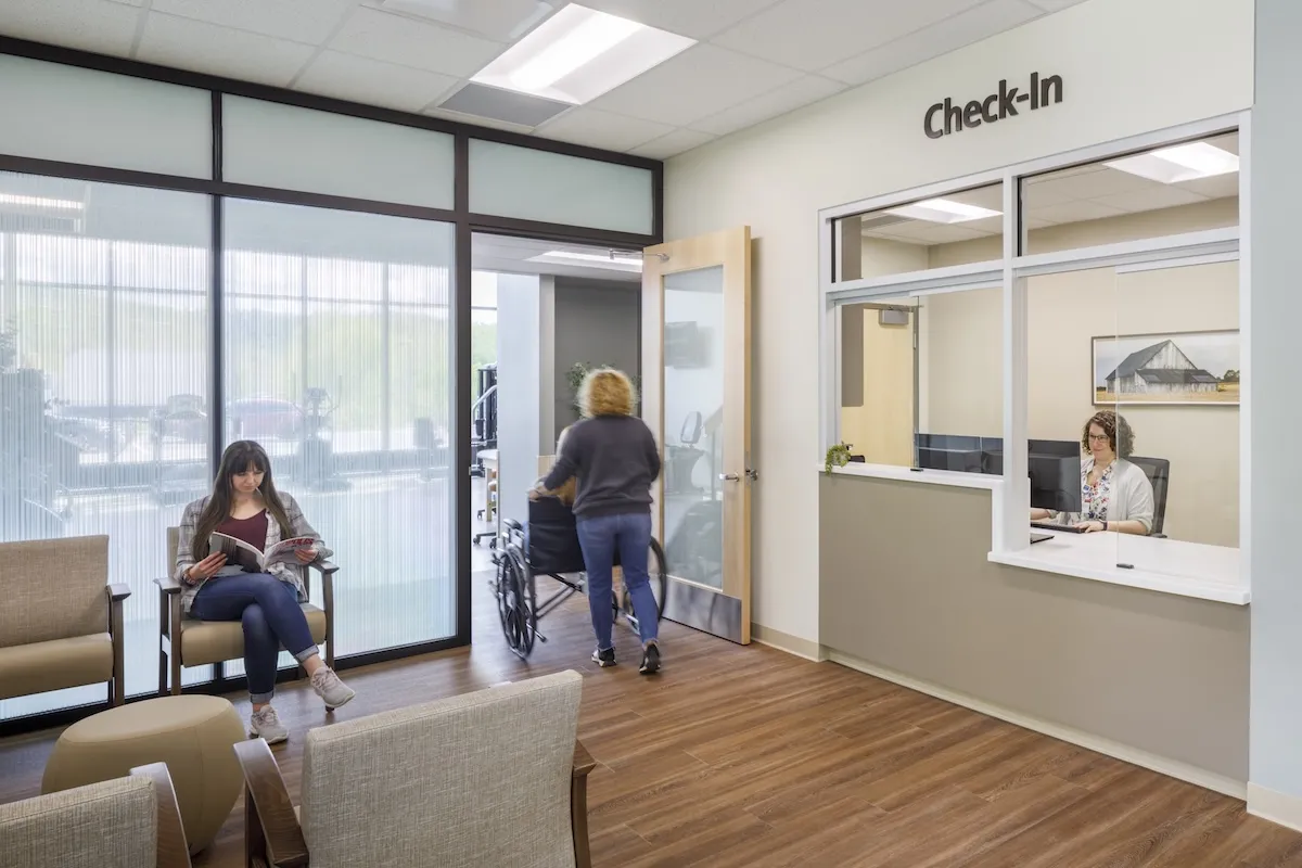
<svg viewBox="0 0 1302 868"><path fill-rule="evenodd" d="M756 623L818 639L818 211L1247 108L1253 38L1253 0L1087 0L667 164L668 238L755 238ZM1062 75L1064 103L923 134L932 103L1032 72Z"/></svg>

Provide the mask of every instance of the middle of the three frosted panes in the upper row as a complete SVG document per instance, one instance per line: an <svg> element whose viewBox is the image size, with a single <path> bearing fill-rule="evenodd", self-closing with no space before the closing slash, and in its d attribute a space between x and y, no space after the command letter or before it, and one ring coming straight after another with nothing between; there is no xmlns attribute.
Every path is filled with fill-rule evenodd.
<svg viewBox="0 0 1302 868"><path fill-rule="evenodd" d="M452 137L223 96L223 178L234 183L452 208Z"/></svg>

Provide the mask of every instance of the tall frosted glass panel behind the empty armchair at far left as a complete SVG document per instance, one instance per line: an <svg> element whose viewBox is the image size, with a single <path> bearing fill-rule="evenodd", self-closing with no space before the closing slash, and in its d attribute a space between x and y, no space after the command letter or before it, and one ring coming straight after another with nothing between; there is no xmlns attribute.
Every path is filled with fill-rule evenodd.
<svg viewBox="0 0 1302 868"><path fill-rule="evenodd" d="M108 535L128 694L158 687L152 580L208 487L210 215L203 195L0 173L0 541ZM0 700L0 718L105 690Z"/></svg>

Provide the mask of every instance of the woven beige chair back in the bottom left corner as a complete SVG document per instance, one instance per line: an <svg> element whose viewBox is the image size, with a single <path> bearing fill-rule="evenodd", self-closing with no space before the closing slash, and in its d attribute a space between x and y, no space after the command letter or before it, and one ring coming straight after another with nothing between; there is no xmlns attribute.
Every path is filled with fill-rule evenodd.
<svg viewBox="0 0 1302 868"><path fill-rule="evenodd" d="M0 865L154 868L158 796L126 777L0 804Z"/></svg>

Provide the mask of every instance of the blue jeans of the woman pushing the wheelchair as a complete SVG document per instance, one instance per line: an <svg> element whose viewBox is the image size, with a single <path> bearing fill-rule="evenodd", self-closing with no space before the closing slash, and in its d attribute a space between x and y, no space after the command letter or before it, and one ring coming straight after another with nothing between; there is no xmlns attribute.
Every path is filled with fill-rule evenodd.
<svg viewBox="0 0 1302 868"><path fill-rule="evenodd" d="M596 647L613 648L611 631L615 612L611 591L615 582L615 552L620 553L624 587L633 600L633 614L638 619L642 644L655 642L660 629L651 576L647 574L647 552L651 548L651 514L599 515L578 519L578 543L583 547L583 566L587 571L587 605L592 613L592 631Z"/></svg>

